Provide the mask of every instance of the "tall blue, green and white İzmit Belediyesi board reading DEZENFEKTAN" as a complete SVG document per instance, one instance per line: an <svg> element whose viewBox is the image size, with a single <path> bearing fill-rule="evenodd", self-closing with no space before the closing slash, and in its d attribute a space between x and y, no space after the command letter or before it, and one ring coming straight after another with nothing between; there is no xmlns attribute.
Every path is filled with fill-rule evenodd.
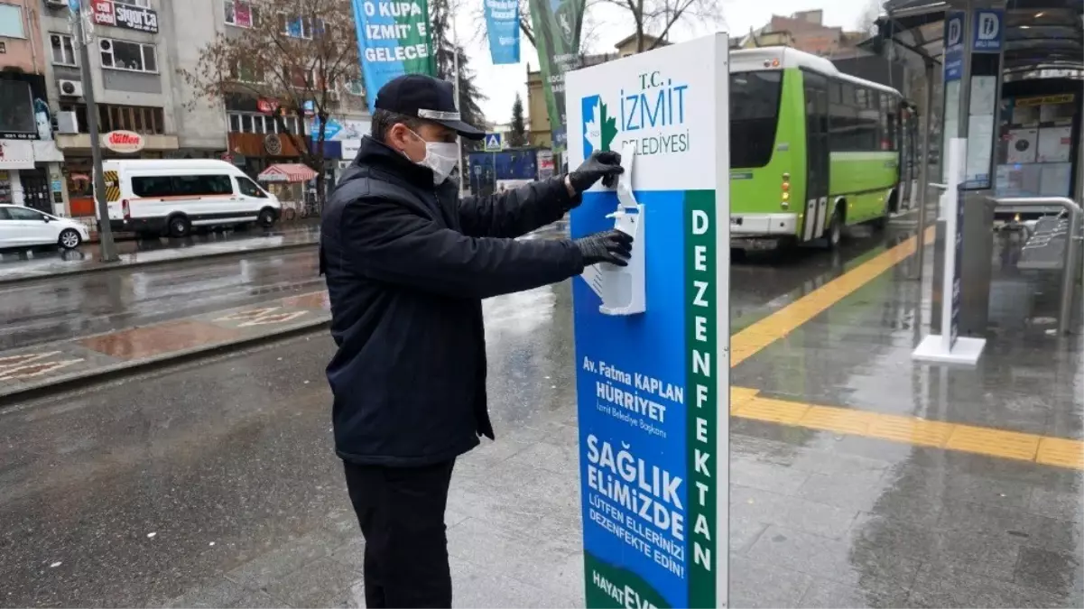
<svg viewBox="0 0 1084 609"><path fill-rule="evenodd" d="M589 609L727 607L730 92L717 34L571 72L569 165L619 151L571 212L634 234L572 284ZM635 151L635 154L633 154Z"/></svg>

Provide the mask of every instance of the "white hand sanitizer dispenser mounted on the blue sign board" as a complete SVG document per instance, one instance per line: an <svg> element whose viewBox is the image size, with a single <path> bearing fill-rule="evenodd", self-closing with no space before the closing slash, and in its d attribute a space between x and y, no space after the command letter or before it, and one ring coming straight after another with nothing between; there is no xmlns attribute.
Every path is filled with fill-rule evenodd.
<svg viewBox="0 0 1084 609"><path fill-rule="evenodd" d="M621 151L624 172L617 183L617 210L606 216L614 218L614 228L632 235L632 257L628 267L598 265L598 296L603 299L598 310L607 315L632 315L647 310L644 282L644 206L632 194L632 167L636 157L635 144L628 143Z"/></svg>

